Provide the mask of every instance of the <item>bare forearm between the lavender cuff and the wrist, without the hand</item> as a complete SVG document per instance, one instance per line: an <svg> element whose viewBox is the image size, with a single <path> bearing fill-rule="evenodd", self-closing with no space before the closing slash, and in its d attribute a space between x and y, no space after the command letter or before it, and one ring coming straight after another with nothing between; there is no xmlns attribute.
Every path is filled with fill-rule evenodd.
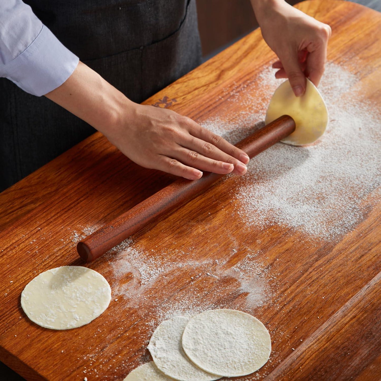
<svg viewBox="0 0 381 381"><path fill-rule="evenodd" d="M45 96L106 136L118 124L121 113L132 112L135 105L82 62L66 82Z"/></svg>

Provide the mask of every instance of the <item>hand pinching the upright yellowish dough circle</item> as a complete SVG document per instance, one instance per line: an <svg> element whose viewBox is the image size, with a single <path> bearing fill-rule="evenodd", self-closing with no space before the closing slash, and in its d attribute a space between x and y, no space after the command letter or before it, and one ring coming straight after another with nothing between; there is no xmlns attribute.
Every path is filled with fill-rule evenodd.
<svg viewBox="0 0 381 381"><path fill-rule="evenodd" d="M296 96L306 77L319 85L327 59L331 28L283 0L251 0L267 45L277 54L276 78L288 78Z"/></svg>

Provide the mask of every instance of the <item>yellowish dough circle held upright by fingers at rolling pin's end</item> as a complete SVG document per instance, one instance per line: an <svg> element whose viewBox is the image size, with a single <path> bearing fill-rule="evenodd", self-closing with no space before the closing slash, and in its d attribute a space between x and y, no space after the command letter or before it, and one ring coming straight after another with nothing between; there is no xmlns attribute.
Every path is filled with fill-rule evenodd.
<svg viewBox="0 0 381 381"><path fill-rule="evenodd" d="M315 85L307 78L305 93L296 97L290 81L283 82L271 98L265 123L282 115L295 120L295 131L281 141L293 146L311 144L322 136L328 123L328 110Z"/></svg>

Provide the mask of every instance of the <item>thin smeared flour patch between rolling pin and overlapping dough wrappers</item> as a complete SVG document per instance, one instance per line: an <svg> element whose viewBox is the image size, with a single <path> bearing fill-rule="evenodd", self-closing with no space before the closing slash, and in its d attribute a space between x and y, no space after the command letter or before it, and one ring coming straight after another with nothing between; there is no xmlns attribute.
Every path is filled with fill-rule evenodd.
<svg viewBox="0 0 381 381"><path fill-rule="evenodd" d="M229 260L236 250L230 256L226 255L224 260L195 260L184 252L177 255L173 252L149 252L139 243L126 241L117 248L117 255L109 256L115 279L114 295L127 299L129 307L138 307L141 298L149 298L159 322L173 316L227 308L232 303L231 299L240 297L243 308L253 311L269 299L268 269L255 258L258 252L246 251L247 256L242 261L231 265ZM176 295L170 291L166 298L166 290L170 290L173 282L171 274L179 270L185 278L181 282L185 282L186 291ZM161 290L159 296L156 294L158 287ZM203 298L204 295L208 298ZM152 321L152 325L157 325L157 321Z"/></svg>

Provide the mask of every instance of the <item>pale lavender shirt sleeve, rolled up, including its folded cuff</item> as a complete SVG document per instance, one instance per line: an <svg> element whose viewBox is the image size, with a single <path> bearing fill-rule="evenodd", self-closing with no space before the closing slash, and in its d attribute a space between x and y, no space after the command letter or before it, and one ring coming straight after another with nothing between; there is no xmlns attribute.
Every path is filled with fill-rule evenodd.
<svg viewBox="0 0 381 381"><path fill-rule="evenodd" d="M0 77L42 96L74 72L78 57L21 0L0 1Z"/></svg>

